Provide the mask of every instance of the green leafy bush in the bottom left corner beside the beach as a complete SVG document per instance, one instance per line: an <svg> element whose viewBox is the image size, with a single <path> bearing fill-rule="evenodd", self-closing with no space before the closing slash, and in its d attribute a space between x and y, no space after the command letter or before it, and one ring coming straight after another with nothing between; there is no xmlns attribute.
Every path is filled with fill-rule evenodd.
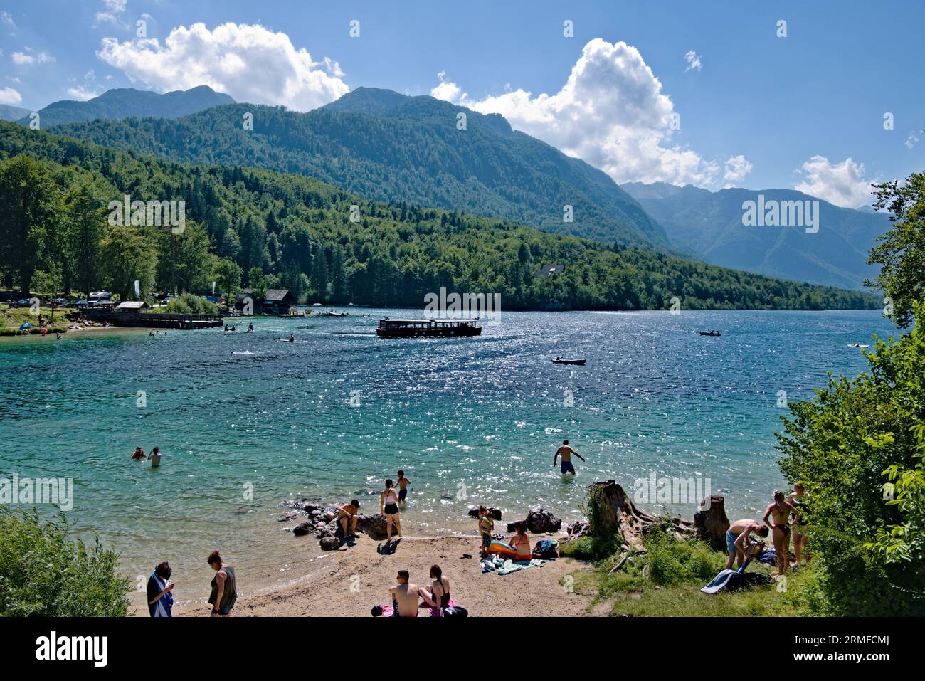
<svg viewBox="0 0 925 681"><path fill-rule="evenodd" d="M129 611L129 579L117 554L70 538L64 514L0 507L0 616L117 617Z"/></svg>

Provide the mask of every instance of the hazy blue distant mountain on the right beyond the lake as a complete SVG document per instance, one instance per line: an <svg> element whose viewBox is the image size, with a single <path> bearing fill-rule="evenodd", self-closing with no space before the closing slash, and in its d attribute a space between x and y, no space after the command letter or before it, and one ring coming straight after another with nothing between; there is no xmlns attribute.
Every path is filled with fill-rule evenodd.
<svg viewBox="0 0 925 681"><path fill-rule="evenodd" d="M890 218L866 210L840 208L803 192L784 189L709 192L693 185L657 182L624 184L648 214L668 232L672 244L708 263L797 281L861 289L876 279L867 264L877 237ZM746 201L819 201L819 231L798 227L746 227Z"/></svg>

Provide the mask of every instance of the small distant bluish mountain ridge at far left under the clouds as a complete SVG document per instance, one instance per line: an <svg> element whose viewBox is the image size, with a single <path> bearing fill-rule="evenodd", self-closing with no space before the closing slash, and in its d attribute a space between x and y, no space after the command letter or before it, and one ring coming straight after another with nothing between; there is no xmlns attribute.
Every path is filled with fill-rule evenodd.
<svg viewBox="0 0 925 681"><path fill-rule="evenodd" d="M216 93L208 85L190 90L176 90L172 93L152 93L134 88L107 90L86 102L62 100L39 110L40 125L44 129L61 123L71 123L94 118L129 118L130 116L154 116L177 118L202 111L211 106L233 104L234 100L225 93ZM19 115L18 122L29 125L28 112Z"/></svg>

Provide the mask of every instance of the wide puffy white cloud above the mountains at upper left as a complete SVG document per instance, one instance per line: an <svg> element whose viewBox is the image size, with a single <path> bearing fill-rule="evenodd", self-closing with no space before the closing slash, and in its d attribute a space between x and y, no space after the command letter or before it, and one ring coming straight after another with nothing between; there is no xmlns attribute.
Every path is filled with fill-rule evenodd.
<svg viewBox="0 0 925 681"><path fill-rule="evenodd" d="M202 23L179 26L163 45L156 38L124 43L104 38L96 56L129 79L162 91L208 85L239 102L298 111L333 102L350 90L337 62L314 62L286 33L260 25L228 22L213 31Z"/></svg>

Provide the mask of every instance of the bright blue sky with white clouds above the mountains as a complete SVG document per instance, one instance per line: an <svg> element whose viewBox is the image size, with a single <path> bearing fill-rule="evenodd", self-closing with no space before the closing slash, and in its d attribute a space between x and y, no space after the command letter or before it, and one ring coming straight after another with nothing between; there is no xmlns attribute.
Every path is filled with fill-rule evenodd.
<svg viewBox="0 0 925 681"><path fill-rule="evenodd" d="M797 187L858 205L870 181L921 170L925 5L772 5L36 0L0 14L0 101L205 82L304 110L375 86L499 111L619 182Z"/></svg>

